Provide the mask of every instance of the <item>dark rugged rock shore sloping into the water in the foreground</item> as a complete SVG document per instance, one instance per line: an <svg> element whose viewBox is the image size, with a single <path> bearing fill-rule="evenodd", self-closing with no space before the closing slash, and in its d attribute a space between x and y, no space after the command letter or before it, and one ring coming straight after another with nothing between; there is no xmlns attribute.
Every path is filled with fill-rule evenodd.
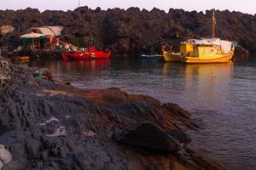
<svg viewBox="0 0 256 170"><path fill-rule="evenodd" d="M0 144L12 157L0 162L4 170L224 169L166 133L197 128L178 105L118 88L81 90L49 74L37 77L36 68L0 63L1 76L9 77L0 79ZM125 138L117 142L117 133ZM150 150L165 144L168 152Z"/></svg>

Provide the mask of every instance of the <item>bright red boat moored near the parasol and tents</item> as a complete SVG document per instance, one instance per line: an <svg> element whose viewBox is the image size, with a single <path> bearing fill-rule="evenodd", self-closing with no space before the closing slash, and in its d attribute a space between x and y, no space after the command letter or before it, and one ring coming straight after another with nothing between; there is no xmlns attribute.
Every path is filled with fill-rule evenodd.
<svg viewBox="0 0 256 170"><path fill-rule="evenodd" d="M111 50L106 52L96 50L95 47L88 48L88 51L61 52L62 59L109 59Z"/></svg>

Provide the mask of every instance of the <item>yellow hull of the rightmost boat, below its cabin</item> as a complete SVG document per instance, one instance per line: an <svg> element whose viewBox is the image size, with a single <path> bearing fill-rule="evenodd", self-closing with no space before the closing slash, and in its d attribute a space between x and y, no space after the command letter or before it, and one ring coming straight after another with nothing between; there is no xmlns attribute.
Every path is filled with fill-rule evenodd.
<svg viewBox="0 0 256 170"><path fill-rule="evenodd" d="M184 63L227 63L232 59L234 52L230 54L218 55L217 57L184 57L182 62Z"/></svg>

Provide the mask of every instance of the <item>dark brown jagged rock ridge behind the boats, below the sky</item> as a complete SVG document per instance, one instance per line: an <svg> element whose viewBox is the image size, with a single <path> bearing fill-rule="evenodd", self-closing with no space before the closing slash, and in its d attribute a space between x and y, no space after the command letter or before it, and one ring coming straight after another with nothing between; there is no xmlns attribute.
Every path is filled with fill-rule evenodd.
<svg viewBox="0 0 256 170"><path fill-rule="evenodd" d="M74 11L25 10L0 11L0 26L15 26L15 33L2 37L2 43L18 40L18 35L32 26L64 26L63 40L84 47L96 42L98 47L113 48L115 54L159 52L164 42L178 44L189 38L211 36L211 11L206 14L154 8L108 9L88 7ZM256 52L256 17L240 12L216 11L217 37L237 41ZM189 31L188 31L189 30Z"/></svg>

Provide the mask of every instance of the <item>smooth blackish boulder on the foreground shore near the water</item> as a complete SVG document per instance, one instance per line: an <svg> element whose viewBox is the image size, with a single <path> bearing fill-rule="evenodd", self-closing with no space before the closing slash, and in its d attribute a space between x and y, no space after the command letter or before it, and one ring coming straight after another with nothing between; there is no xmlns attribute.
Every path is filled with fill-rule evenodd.
<svg viewBox="0 0 256 170"><path fill-rule="evenodd" d="M121 144L130 144L148 150L176 152L180 144L152 123L141 123L124 129L114 139Z"/></svg>

